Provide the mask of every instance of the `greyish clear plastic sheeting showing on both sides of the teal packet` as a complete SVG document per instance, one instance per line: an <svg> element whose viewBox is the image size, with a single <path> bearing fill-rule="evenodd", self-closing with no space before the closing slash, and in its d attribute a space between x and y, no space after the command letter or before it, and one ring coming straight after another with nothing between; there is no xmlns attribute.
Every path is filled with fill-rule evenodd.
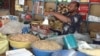
<svg viewBox="0 0 100 56"><path fill-rule="evenodd" d="M49 37L46 40L54 40L54 41L58 42L59 44L64 45L64 43L63 43L64 36L66 36L66 35ZM87 34L80 34L80 33L76 32L76 33L74 33L74 36L75 36L76 40L81 40L81 41L86 41L88 43L92 43L92 39Z"/></svg>

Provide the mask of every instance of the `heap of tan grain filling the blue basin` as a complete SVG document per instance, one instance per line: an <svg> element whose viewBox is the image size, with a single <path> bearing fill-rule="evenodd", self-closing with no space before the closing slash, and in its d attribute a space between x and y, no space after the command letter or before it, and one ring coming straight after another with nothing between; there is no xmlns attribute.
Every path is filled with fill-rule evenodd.
<svg viewBox="0 0 100 56"><path fill-rule="evenodd" d="M47 51L54 51L62 49L61 45L56 43L55 41L47 41L47 40L40 40L36 41L32 44L33 48L47 50Z"/></svg>

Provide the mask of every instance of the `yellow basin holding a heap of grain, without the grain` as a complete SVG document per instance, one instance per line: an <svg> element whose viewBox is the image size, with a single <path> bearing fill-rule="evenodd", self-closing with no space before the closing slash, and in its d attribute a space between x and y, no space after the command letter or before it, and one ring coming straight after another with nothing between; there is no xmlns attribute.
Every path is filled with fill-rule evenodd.
<svg viewBox="0 0 100 56"><path fill-rule="evenodd" d="M14 48L30 48L31 42L18 42L10 40L10 46Z"/></svg>

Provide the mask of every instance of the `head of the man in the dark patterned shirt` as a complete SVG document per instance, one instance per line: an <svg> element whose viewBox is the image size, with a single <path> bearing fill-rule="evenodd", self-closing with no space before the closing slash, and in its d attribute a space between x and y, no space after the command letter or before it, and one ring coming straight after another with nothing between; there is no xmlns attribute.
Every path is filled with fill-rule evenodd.
<svg viewBox="0 0 100 56"><path fill-rule="evenodd" d="M71 13L75 12L78 10L79 6L80 6L80 4L78 2L73 1L68 5L68 11Z"/></svg>

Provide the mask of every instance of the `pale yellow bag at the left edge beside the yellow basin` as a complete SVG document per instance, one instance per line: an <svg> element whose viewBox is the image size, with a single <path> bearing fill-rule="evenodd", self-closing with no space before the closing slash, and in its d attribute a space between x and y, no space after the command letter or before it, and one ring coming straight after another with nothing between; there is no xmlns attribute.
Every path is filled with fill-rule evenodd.
<svg viewBox="0 0 100 56"><path fill-rule="evenodd" d="M3 54L9 49L8 40L5 36L0 33L0 54Z"/></svg>

